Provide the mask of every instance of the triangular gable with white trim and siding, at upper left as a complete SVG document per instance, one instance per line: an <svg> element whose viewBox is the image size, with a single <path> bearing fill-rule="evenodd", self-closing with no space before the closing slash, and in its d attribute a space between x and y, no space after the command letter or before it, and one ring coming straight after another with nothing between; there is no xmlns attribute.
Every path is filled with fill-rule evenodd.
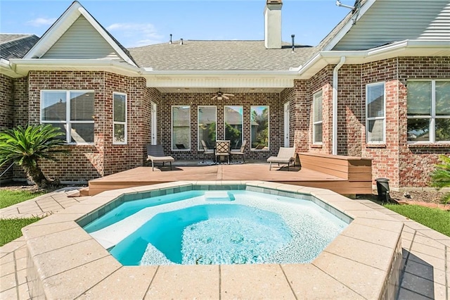
<svg viewBox="0 0 450 300"><path fill-rule="evenodd" d="M77 1L24 58L113 59L136 63Z"/></svg>

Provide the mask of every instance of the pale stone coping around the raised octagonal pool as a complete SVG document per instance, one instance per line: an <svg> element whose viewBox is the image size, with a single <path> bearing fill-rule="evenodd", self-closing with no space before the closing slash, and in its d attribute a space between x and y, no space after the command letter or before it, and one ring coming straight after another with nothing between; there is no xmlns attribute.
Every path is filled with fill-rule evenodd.
<svg viewBox="0 0 450 300"><path fill-rule="evenodd" d="M316 204L353 221L312 263L159 266L121 265L75 222L123 194L194 185L245 185L282 196L310 194L311 200L319 200ZM394 299L402 228L401 221L327 189L261 181L184 181L103 192L24 227L23 234L32 299Z"/></svg>

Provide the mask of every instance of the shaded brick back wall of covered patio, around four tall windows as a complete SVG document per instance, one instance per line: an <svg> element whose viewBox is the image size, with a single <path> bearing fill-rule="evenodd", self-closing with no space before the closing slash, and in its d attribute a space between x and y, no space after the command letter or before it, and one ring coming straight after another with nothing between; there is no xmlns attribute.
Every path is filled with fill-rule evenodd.
<svg viewBox="0 0 450 300"><path fill-rule="evenodd" d="M224 106L243 106L243 139L247 139L245 158L265 160L278 154L283 144L283 106L280 94L235 94L229 100L212 100L214 94L162 94L161 141L165 152L176 159L201 159L198 151L198 106L217 106L217 139L224 139ZM191 151L172 151L172 106L191 106ZM250 106L269 106L269 151L250 151Z"/></svg>

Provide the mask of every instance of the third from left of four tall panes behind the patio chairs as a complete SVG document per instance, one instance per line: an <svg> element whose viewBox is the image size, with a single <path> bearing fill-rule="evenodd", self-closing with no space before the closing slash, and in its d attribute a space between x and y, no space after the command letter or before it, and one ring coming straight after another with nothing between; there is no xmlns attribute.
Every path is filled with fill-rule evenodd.
<svg viewBox="0 0 450 300"><path fill-rule="evenodd" d="M230 141L231 149L239 149L242 144L243 106L225 106L225 139Z"/></svg>

